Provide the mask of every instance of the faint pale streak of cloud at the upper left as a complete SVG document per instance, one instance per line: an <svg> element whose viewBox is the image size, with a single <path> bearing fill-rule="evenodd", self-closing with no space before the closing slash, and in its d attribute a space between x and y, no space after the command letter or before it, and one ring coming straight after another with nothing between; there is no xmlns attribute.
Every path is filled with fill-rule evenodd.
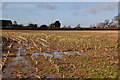
<svg viewBox="0 0 120 80"><path fill-rule="evenodd" d="M11 3L3 3L2 8L32 8L36 7L35 4L11 4Z"/></svg>

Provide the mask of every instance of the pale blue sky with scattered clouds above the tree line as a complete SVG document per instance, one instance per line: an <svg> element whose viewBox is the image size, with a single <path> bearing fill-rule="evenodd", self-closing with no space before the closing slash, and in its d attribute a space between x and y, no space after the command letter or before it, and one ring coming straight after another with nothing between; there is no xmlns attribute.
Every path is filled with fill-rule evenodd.
<svg viewBox="0 0 120 80"><path fill-rule="evenodd" d="M83 27L113 19L117 2L2 2L2 17L18 24L49 25L59 20L62 26Z"/></svg>

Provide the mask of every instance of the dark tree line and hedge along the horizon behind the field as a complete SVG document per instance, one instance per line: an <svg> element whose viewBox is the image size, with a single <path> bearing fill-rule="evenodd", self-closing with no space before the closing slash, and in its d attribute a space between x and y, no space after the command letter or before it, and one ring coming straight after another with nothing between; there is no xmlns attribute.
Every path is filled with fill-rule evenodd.
<svg viewBox="0 0 120 80"><path fill-rule="evenodd" d="M43 24L38 26L37 24L30 23L27 26L24 26L22 24L17 24L17 21L13 21L11 23L10 21L4 21L2 23L2 29L13 29L13 30L91 30L91 29L119 29L120 25L120 14L115 16L112 20L105 20L103 22L99 22L97 24L92 24L89 27L81 27L80 24L77 24L74 28L71 26L63 26L61 27L60 21L55 21L54 23L51 23L49 25ZM11 25L11 26L10 26Z"/></svg>

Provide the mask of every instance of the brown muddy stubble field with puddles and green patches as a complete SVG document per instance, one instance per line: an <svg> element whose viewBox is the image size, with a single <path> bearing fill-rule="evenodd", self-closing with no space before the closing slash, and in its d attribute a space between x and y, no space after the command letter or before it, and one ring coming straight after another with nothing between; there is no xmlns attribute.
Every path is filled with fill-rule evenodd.
<svg viewBox="0 0 120 80"><path fill-rule="evenodd" d="M2 31L3 78L120 78L118 31Z"/></svg>

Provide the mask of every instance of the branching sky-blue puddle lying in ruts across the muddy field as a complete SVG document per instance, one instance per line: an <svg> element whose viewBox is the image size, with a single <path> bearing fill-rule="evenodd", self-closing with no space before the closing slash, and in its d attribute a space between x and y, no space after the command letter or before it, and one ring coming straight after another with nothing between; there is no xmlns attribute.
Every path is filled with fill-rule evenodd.
<svg viewBox="0 0 120 80"><path fill-rule="evenodd" d="M18 44L20 45L19 48L18 48L18 52L17 52L17 55L15 55L15 58L13 59L13 63L11 65L16 65L16 64L25 64L26 66L31 66L29 64L29 61L26 61L24 59L24 56L30 56L32 58L32 55L35 56L36 58L38 58L40 55L45 55L47 57L54 57L54 58L59 58L59 59L63 59L63 56L65 55L74 55L76 54L76 52L74 52L74 50L67 50L67 51L54 51L50 48L48 48L51 53L32 53L32 54L23 54L26 52L26 49L23 48L23 45L20 41L17 41ZM46 46L45 44L43 44L41 42L41 44L44 46L44 47L49 47L49 46ZM30 44L29 44L30 45ZM32 47L32 46L31 46ZM87 56L87 54L78 54L78 55L84 55L84 56ZM23 69L24 70L24 69Z"/></svg>

